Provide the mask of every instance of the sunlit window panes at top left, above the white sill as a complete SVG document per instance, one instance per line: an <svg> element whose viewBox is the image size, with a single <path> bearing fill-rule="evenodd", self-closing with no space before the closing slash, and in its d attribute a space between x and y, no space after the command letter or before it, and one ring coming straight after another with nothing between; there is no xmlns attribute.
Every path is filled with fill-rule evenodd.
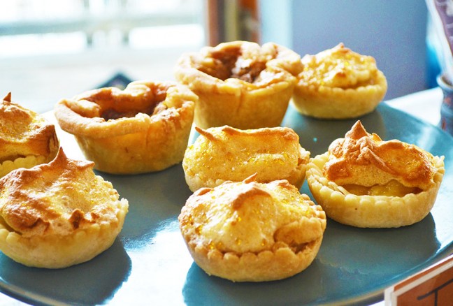
<svg viewBox="0 0 453 306"><path fill-rule="evenodd" d="M201 0L12 0L2 6L0 57L171 48L205 40Z"/></svg>

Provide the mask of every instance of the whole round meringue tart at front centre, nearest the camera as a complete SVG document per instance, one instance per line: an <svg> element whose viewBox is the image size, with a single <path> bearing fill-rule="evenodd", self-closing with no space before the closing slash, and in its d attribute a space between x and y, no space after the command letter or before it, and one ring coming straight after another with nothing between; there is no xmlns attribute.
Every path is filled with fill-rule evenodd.
<svg viewBox="0 0 453 306"><path fill-rule="evenodd" d="M233 282L291 277L317 256L326 215L286 180L225 182L202 188L182 207L180 231L208 275Z"/></svg>

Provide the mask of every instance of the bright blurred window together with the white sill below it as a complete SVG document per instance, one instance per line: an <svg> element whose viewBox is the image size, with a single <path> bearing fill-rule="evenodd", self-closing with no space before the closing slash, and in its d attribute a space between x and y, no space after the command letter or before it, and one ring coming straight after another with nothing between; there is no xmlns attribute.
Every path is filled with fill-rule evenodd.
<svg viewBox="0 0 453 306"><path fill-rule="evenodd" d="M0 1L0 94L37 112L118 73L173 80L206 45L204 0Z"/></svg>

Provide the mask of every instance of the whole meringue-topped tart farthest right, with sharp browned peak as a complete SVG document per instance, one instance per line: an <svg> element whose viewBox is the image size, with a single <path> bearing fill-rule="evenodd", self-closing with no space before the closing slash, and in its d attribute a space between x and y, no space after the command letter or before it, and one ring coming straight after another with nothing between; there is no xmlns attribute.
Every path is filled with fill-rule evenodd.
<svg viewBox="0 0 453 306"><path fill-rule="evenodd" d="M310 159L307 182L327 216L357 227L414 224L431 211L445 167L416 145L381 140L358 121Z"/></svg>

